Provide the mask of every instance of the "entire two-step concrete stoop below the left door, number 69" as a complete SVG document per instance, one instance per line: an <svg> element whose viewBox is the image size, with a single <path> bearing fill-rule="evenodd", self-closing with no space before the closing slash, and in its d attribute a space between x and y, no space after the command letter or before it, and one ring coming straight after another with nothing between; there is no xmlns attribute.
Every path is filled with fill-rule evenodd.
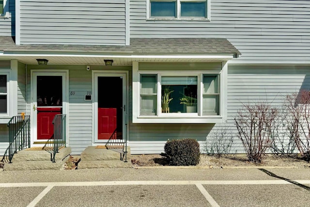
<svg viewBox="0 0 310 207"><path fill-rule="evenodd" d="M71 147L64 147L52 162L51 154L45 150L22 150L13 156L12 163L4 164L3 170L60 170L70 153Z"/></svg>

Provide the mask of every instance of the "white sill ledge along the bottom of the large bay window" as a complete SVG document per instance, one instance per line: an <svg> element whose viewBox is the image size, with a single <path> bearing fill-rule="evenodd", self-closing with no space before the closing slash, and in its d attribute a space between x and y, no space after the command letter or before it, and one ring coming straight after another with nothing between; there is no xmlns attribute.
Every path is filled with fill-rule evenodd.
<svg viewBox="0 0 310 207"><path fill-rule="evenodd" d="M215 124L225 123L225 119L221 116L188 116L188 117L158 117L158 116L140 116L133 117L133 123L167 123L167 124L181 124L181 123L192 123L192 124Z"/></svg>

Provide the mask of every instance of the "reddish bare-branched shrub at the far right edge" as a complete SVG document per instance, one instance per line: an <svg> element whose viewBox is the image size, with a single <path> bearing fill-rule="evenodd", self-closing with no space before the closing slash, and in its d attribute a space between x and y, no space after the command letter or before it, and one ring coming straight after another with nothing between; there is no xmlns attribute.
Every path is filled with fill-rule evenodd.
<svg viewBox="0 0 310 207"><path fill-rule="evenodd" d="M283 106L287 113L290 136L303 159L310 161L310 93L303 90L286 96Z"/></svg>

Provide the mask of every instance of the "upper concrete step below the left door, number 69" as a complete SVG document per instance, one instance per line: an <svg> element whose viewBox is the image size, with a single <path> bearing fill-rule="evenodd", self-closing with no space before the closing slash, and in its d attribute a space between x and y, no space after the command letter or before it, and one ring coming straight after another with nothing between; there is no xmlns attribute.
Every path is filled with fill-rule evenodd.
<svg viewBox="0 0 310 207"><path fill-rule="evenodd" d="M59 150L59 153L56 153L55 161L62 160L71 153L71 147L63 147ZM21 161L49 161L51 159L51 153L45 150L22 150L16 153L13 156L12 162L21 162Z"/></svg>

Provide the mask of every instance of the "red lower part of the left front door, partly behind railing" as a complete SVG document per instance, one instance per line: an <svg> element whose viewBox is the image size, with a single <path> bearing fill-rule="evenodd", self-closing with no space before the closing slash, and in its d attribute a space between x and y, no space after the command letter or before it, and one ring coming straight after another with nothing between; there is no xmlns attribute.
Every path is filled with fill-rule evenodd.
<svg viewBox="0 0 310 207"><path fill-rule="evenodd" d="M52 124L56 114L61 114L62 108L37 108L37 138L48 140L53 138L54 126Z"/></svg>

